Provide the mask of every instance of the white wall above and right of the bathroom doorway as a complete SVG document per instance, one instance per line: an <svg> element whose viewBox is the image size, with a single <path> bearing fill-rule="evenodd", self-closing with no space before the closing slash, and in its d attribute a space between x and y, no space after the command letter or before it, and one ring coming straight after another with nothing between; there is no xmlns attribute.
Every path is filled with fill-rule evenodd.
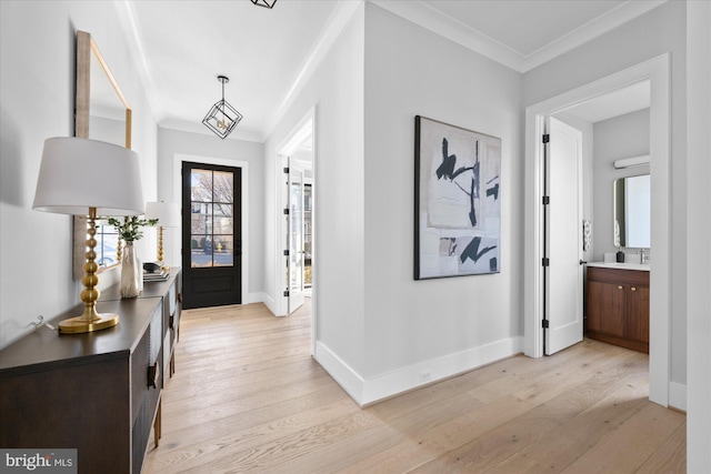
<svg viewBox="0 0 711 474"><path fill-rule="evenodd" d="M671 242L687 252L685 2L661 7L523 75L524 105L671 53ZM671 259L671 381L687 381L687 262Z"/></svg>

